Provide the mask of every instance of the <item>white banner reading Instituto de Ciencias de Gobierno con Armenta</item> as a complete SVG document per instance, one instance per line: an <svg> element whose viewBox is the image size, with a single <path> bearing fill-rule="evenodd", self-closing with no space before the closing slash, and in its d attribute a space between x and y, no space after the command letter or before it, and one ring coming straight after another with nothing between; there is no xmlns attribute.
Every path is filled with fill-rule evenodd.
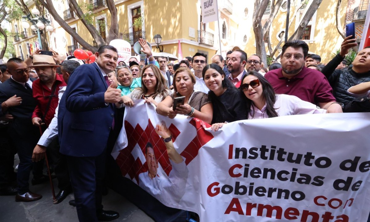
<svg viewBox="0 0 370 222"><path fill-rule="evenodd" d="M369 113L245 120L212 132L195 118L171 120L134 102L112 155L123 176L166 206L202 222L367 221ZM161 121L183 162L169 159L155 131Z"/></svg>

